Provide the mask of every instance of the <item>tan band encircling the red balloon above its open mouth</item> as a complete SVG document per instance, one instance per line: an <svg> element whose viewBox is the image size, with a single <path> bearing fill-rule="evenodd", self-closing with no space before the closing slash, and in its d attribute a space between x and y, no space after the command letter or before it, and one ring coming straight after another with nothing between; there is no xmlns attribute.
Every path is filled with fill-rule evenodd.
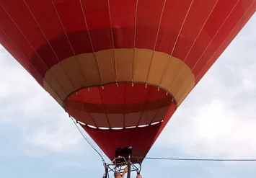
<svg viewBox="0 0 256 178"><path fill-rule="evenodd" d="M153 50L148 49L122 48L114 50L117 82L135 81L146 83L147 75L149 74L148 84L160 86L167 90L175 98L177 106L181 104L195 86L194 74L179 58L158 51L155 51L153 56ZM134 68L132 66L133 51L135 51ZM50 68L45 74L45 90L63 107L66 97L75 92L74 87L78 91L88 86L100 85L100 75L102 76L102 84L116 82L115 68L112 63L112 58L114 57L112 49L98 51L95 55L97 55L99 62L100 74L97 71L97 62L93 53L76 55L79 64L74 62L74 56L66 58L61 63ZM81 70L78 65L80 65ZM81 76L84 76L85 79ZM56 84L57 82L61 87Z"/></svg>

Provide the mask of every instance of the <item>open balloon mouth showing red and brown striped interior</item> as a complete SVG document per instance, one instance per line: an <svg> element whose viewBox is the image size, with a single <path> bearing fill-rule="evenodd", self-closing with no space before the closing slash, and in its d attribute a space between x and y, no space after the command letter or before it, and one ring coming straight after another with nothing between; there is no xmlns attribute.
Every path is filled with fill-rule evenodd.
<svg viewBox="0 0 256 178"><path fill-rule="evenodd" d="M163 122L175 99L151 84L112 83L74 92L65 110L81 125L100 130L145 128Z"/></svg>

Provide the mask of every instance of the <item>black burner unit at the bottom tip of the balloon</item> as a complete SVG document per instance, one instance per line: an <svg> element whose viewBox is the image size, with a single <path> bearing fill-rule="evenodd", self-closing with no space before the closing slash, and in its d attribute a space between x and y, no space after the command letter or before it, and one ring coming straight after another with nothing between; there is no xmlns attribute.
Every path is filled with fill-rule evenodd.
<svg viewBox="0 0 256 178"><path fill-rule="evenodd" d="M132 153L133 153L133 151L132 151L131 146L127 146L124 148L116 148L115 149L115 162L123 163L126 160L131 159Z"/></svg>

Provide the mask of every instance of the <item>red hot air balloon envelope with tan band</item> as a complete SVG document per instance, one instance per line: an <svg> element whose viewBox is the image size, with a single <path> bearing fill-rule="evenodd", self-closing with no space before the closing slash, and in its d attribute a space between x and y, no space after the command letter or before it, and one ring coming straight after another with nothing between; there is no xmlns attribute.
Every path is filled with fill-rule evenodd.
<svg viewBox="0 0 256 178"><path fill-rule="evenodd" d="M1 0L1 45L104 153L141 163L253 0Z"/></svg>

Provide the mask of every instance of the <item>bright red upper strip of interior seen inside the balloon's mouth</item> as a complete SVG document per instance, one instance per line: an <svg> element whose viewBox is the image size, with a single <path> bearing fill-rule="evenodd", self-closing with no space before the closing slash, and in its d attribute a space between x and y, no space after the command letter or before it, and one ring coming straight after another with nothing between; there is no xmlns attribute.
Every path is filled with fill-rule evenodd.
<svg viewBox="0 0 256 178"><path fill-rule="evenodd" d="M166 92L156 86L135 83L107 84L81 89L69 99L94 104L133 104L166 98Z"/></svg>

